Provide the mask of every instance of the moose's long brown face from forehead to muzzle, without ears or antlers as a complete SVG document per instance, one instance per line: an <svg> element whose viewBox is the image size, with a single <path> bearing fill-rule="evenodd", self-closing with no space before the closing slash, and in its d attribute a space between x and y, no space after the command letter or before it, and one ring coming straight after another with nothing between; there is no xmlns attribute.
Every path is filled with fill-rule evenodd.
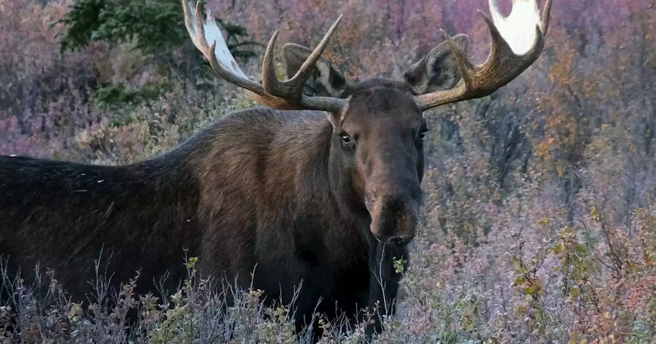
<svg viewBox="0 0 656 344"><path fill-rule="evenodd" d="M371 233L401 246L415 237L428 130L409 91L376 87L353 94L333 139L371 216Z"/></svg>

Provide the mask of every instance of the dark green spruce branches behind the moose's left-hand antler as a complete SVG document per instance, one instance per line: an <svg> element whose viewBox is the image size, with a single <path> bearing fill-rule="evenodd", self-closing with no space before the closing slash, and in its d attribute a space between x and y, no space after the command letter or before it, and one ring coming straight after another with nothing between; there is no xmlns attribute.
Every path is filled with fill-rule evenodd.
<svg viewBox="0 0 656 344"><path fill-rule="evenodd" d="M247 62L256 57L253 47L262 44L245 40L248 37L246 28L222 18L216 18L216 22L225 30L228 50L238 61ZM64 29L56 35L62 52L80 50L90 42L107 43L108 47L133 42L133 52L139 50L149 60L164 65L159 67L160 71L167 67L183 67L176 66L173 54L189 43L178 0L77 0L64 18L51 26L54 24L64 24ZM203 63L199 58L191 60L195 64ZM145 104L167 92L168 87L167 83L151 82L130 88L124 82L98 88L94 98L105 107Z"/></svg>

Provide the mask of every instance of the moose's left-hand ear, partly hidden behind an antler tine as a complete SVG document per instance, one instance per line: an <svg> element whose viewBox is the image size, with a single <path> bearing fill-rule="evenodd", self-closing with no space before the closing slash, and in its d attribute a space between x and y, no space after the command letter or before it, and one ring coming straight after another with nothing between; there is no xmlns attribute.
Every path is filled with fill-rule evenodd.
<svg viewBox="0 0 656 344"><path fill-rule="evenodd" d="M287 43L283 47L282 58L285 64L287 79L293 77L300 66L310 56L309 48ZM308 96L331 96L339 98L348 85L346 78L340 71L333 68L324 58L319 58L305 82L303 92Z"/></svg>

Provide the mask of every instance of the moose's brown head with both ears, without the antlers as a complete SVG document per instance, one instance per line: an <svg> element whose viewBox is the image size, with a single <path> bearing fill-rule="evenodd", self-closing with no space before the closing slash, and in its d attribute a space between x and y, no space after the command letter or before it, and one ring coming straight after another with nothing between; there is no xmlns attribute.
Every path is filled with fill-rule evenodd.
<svg viewBox="0 0 656 344"><path fill-rule="evenodd" d="M468 37L454 42L468 50ZM293 77L310 56L309 48L287 44L283 60ZM333 125L332 168L338 183L347 183L344 197L371 216L371 233L385 244L404 246L416 233L422 199L424 138L428 127L415 96L452 88L461 77L447 43L434 48L405 73L403 81L369 79L349 83L323 58L304 84L308 96L346 100L328 113Z"/></svg>

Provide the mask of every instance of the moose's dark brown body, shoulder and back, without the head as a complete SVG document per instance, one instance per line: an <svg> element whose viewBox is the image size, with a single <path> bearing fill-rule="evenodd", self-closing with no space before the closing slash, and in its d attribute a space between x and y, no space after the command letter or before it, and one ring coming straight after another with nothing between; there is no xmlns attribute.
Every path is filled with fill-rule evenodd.
<svg viewBox="0 0 656 344"><path fill-rule="evenodd" d="M140 270L137 291L152 292L167 270L168 288L186 277L188 250L202 273L242 288L255 272L268 301L289 302L302 282L299 315L319 297L321 313L335 302L356 312L367 306L377 241L365 208L340 208L348 195L329 168L332 138L325 113L260 107L126 166L0 157L0 250L27 276L39 261L53 268L74 300L92 296L100 252L113 286Z"/></svg>

